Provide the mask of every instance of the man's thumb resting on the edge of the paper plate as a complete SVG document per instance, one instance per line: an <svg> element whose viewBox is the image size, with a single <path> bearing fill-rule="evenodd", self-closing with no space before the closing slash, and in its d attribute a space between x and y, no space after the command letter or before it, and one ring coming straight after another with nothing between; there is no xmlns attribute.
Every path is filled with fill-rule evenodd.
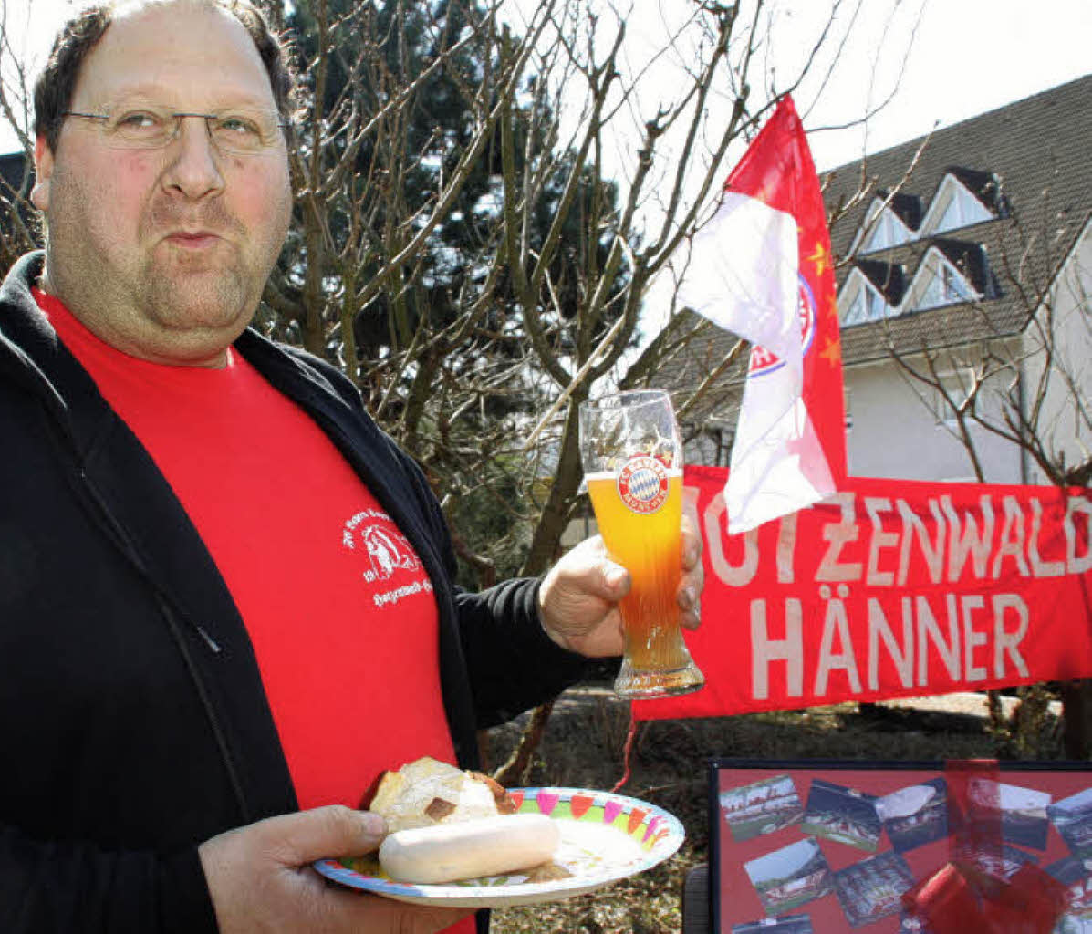
<svg viewBox="0 0 1092 934"><path fill-rule="evenodd" d="M387 823L378 814L341 804L284 814L264 823L286 856L284 861L297 866L370 853L387 836Z"/></svg>

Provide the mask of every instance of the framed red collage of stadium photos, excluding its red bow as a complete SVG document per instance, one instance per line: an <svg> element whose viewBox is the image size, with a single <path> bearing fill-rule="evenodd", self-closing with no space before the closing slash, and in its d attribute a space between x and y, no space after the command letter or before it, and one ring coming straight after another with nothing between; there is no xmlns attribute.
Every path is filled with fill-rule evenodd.
<svg viewBox="0 0 1092 934"><path fill-rule="evenodd" d="M1092 932L1092 766L972 765L711 759L712 931L922 934L902 895L974 831L984 872L1030 862L1066 887L1055 934Z"/></svg>

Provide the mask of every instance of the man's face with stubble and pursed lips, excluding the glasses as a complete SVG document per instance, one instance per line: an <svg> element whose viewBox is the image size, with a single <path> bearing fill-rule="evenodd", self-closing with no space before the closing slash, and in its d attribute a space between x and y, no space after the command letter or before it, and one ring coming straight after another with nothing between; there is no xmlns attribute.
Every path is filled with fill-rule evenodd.
<svg viewBox="0 0 1092 934"><path fill-rule="evenodd" d="M275 109L242 25L185 0L115 20L85 59L69 109L141 104L191 114ZM130 355L219 365L287 233L283 139L262 153L224 153L204 120L186 118L163 149L119 149L100 122L66 118L55 152L38 140L44 285Z"/></svg>

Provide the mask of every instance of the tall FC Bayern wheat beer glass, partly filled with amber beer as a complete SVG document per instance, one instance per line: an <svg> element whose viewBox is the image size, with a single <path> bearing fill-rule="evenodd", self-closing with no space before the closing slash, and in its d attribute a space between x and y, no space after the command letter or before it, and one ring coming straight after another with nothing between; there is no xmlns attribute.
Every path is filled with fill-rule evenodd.
<svg viewBox="0 0 1092 934"><path fill-rule="evenodd" d="M610 557L632 588L621 601L622 697L689 694L705 679L690 658L676 603L682 563L682 445L670 398L619 392L580 406L587 493Z"/></svg>

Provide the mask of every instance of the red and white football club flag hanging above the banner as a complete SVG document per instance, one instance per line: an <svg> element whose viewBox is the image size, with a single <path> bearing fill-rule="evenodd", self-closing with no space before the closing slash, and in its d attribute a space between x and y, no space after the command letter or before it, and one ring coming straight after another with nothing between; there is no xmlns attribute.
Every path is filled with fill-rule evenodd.
<svg viewBox="0 0 1092 934"><path fill-rule="evenodd" d="M728 531L810 506L845 476L830 234L786 95L695 237L679 299L752 344L725 486Z"/></svg>

